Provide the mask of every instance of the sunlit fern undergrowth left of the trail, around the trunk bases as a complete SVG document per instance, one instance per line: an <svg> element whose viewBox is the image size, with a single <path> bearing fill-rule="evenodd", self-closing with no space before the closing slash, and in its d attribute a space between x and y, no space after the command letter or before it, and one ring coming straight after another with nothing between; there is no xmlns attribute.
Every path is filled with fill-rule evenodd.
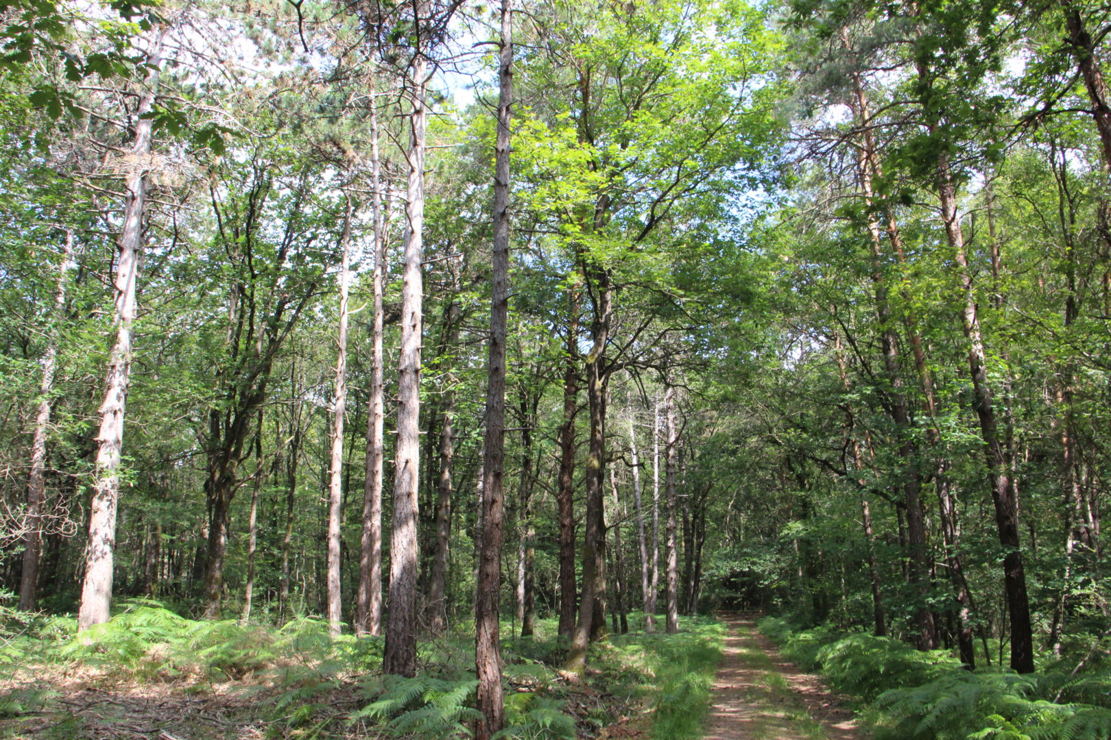
<svg viewBox="0 0 1111 740"><path fill-rule="evenodd" d="M721 655L722 628L713 621L683 620L675 636L612 636L591 648L585 685L568 682L558 670L563 646L554 624L541 620L539 627L534 637L507 636L503 642L508 727L500 740L571 740L645 710L653 738L698 737ZM129 696L160 685L160 697L187 703L198 693L220 697L229 732L239 722L264 727L267 738L300 740L470 737L477 717L473 637L458 631L422 642L421 670L409 679L381 675L382 648L381 638L331 637L314 618L280 628L198 621L144 599L122 604L111 621L80 635L71 618L4 609L0 673L19 678L0 687L0 737L54 737L32 731L36 718L47 717L72 737L99 737L142 706L141 698L121 700L122 717L114 718L111 710L100 719L70 711L80 700L62 695L74 689L56 690L40 679L73 671ZM152 713L158 717L148 719L171 737L203 732L172 712ZM96 724L101 720L107 726Z"/></svg>

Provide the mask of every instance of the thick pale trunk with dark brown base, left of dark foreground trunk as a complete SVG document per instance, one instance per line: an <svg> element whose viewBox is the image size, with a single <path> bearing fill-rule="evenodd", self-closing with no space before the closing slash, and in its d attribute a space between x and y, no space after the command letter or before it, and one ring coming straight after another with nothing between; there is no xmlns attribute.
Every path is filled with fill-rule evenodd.
<svg viewBox="0 0 1111 740"><path fill-rule="evenodd" d="M423 6L423 3L421 3ZM427 11L427 9L426 9ZM420 23L418 19L418 23ZM419 36L420 33L418 33ZM424 230L424 134L428 123L428 61L417 54L412 70L409 181L406 199L404 271L401 288L401 347L398 356L398 434L394 453L393 530L390 538L390 609L386 624L387 673L417 672L417 521L420 515L421 293Z"/></svg>

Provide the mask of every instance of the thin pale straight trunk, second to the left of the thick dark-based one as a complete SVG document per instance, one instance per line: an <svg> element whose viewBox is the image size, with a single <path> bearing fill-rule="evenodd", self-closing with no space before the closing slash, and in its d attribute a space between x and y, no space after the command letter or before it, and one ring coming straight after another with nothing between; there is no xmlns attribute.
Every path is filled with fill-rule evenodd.
<svg viewBox="0 0 1111 740"><path fill-rule="evenodd" d="M343 519L343 422L347 415L347 326L348 293L351 282L351 196L347 196L343 234L340 236L340 316L336 336L336 404L332 409L332 455L328 481L328 631L333 637L342 630L340 599L340 546Z"/></svg>

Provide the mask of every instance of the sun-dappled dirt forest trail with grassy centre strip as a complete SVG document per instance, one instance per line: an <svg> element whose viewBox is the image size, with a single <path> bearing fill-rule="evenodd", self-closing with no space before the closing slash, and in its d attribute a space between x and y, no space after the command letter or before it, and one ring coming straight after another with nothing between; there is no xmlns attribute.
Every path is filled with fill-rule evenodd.
<svg viewBox="0 0 1111 740"><path fill-rule="evenodd" d="M752 615L725 614L724 658L704 740L858 740L852 712L822 682L783 660Z"/></svg>

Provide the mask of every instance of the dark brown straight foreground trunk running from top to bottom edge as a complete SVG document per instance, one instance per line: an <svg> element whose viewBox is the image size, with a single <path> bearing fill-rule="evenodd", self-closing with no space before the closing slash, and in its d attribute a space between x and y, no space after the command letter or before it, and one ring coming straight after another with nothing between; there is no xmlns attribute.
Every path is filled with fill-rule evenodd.
<svg viewBox="0 0 1111 740"><path fill-rule="evenodd" d="M503 467L506 462L506 337L509 321L509 146L513 102L513 23L511 0L501 3L501 55L498 64L498 139L494 145L493 255L490 293L490 359L487 366L486 500L482 557L474 596L476 740L489 740L506 723L501 688L498 596L501 586Z"/></svg>

